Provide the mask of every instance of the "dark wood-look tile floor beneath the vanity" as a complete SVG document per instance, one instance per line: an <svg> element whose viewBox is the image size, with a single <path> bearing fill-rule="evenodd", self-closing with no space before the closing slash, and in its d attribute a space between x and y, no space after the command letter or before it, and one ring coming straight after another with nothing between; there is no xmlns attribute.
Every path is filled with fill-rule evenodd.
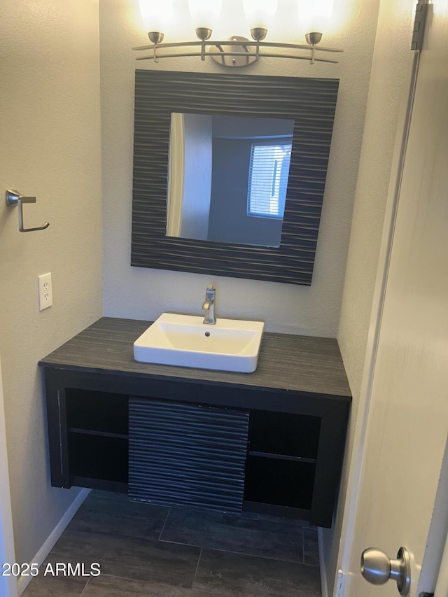
<svg viewBox="0 0 448 597"><path fill-rule="evenodd" d="M302 521L92 491L23 595L321 597L317 554Z"/></svg>

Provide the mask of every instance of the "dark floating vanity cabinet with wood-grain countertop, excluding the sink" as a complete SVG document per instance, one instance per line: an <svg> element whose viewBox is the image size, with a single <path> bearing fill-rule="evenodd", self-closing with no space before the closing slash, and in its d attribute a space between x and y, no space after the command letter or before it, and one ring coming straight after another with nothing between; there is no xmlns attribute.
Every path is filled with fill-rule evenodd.
<svg viewBox="0 0 448 597"><path fill-rule="evenodd" d="M330 527L351 393L335 339L265 333L254 373L137 363L102 318L39 365L52 486Z"/></svg>

